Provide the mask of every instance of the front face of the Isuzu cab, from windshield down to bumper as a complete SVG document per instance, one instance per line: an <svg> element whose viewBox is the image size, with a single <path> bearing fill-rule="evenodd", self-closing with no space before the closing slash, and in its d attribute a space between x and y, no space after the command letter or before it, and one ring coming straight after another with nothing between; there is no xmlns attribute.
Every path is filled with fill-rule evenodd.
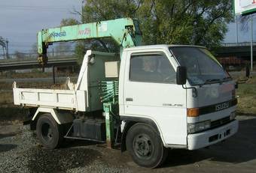
<svg viewBox="0 0 256 173"><path fill-rule="evenodd" d="M187 67L187 148L203 148L236 133L235 83L221 64L202 47L170 50Z"/></svg>

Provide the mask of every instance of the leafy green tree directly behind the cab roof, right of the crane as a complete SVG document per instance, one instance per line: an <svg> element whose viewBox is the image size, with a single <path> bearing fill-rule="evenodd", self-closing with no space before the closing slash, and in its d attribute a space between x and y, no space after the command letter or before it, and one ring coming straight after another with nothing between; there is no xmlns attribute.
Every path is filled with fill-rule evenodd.
<svg viewBox="0 0 256 173"><path fill-rule="evenodd" d="M217 46L232 21L231 1L146 0L139 9L148 44Z"/></svg>

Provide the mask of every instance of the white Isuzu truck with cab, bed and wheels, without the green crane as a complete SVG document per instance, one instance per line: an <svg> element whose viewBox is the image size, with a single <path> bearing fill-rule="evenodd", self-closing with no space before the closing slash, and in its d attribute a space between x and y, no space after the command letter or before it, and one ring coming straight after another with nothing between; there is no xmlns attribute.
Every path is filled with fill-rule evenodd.
<svg viewBox="0 0 256 173"><path fill-rule="evenodd" d="M14 83L14 104L30 108L32 130L45 148L63 138L105 142L112 115L114 144L139 166L154 168L166 148L197 150L237 132L235 82L205 47L134 46L120 56L87 51L69 90ZM102 110L99 81L118 82L114 110Z"/></svg>

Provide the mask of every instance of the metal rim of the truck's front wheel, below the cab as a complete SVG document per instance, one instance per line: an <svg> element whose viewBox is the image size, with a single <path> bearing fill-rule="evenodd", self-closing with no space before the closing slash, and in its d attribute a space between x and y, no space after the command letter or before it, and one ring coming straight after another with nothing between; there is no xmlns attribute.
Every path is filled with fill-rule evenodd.
<svg viewBox="0 0 256 173"><path fill-rule="evenodd" d="M148 135L141 134L134 139L133 148L137 157L148 159L152 156L154 145Z"/></svg>

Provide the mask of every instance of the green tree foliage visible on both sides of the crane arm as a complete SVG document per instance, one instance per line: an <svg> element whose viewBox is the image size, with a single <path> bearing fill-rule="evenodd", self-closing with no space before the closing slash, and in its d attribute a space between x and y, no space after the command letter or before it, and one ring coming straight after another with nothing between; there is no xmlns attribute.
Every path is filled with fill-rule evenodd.
<svg viewBox="0 0 256 173"><path fill-rule="evenodd" d="M233 20L231 3L230 0L87 0L80 14L84 23L138 18L144 44L195 44L211 49L221 43L227 23ZM86 47L82 49L83 46ZM109 40L91 40L77 49L81 53L92 47L111 51L118 45Z"/></svg>

